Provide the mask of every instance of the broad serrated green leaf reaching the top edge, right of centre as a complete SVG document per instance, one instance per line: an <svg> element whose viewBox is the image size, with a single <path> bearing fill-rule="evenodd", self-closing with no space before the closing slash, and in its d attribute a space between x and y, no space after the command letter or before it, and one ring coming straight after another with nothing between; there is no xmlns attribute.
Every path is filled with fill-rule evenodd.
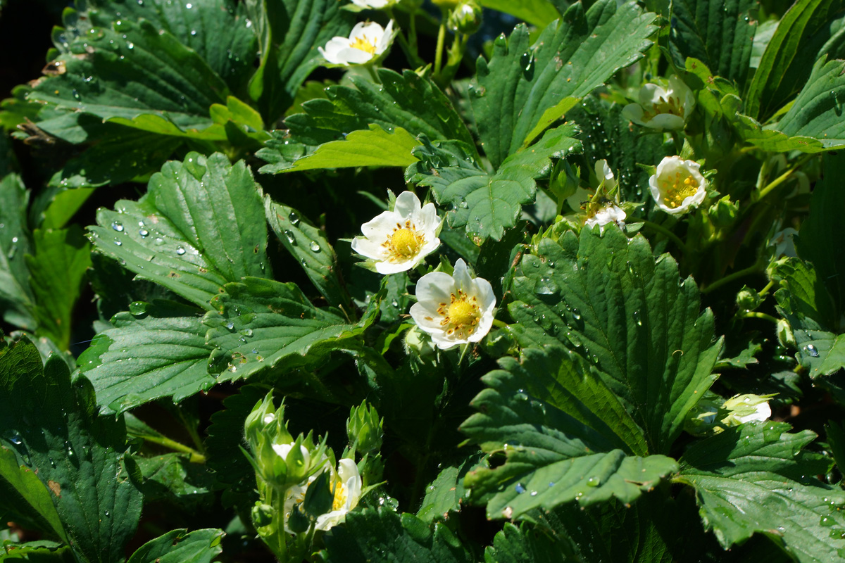
<svg viewBox="0 0 845 563"><path fill-rule="evenodd" d="M568 97L582 98L629 66L651 46L654 14L635 3L619 8L599 0L584 12L573 4L563 19L549 24L532 46L528 29L517 25L508 40L493 41L489 62L479 58L472 110L484 153L498 167L538 125L551 121L547 111ZM565 100L564 100L565 101Z"/></svg>

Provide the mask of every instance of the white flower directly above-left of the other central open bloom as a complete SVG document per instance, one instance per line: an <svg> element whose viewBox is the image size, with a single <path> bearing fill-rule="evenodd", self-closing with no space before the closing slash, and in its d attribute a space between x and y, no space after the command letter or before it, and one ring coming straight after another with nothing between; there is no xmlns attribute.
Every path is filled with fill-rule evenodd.
<svg viewBox="0 0 845 563"><path fill-rule="evenodd" d="M423 206L414 192L401 192L393 211L361 226L363 236L352 241L352 251L369 258L378 273L404 272L437 250L442 223L433 203Z"/></svg>

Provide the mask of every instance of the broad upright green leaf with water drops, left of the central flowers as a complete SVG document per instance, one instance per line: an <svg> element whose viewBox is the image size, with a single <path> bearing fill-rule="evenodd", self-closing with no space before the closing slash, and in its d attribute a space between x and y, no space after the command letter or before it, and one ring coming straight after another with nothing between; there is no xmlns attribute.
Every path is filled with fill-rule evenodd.
<svg viewBox="0 0 845 563"><path fill-rule="evenodd" d="M99 252L206 309L227 282L270 275L262 196L243 161L223 154L168 162L143 198L101 209L97 222Z"/></svg>

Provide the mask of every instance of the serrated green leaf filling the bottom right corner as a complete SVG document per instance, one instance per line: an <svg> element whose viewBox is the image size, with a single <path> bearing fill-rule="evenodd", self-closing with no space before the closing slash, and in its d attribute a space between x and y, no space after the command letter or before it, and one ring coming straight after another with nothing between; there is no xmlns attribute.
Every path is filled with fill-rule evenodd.
<svg viewBox="0 0 845 563"><path fill-rule="evenodd" d="M837 560L845 549L845 493L812 475L829 462L801 450L815 434L780 422L740 425L693 444L677 481L691 485L701 517L722 547L762 533L804 562Z"/></svg>

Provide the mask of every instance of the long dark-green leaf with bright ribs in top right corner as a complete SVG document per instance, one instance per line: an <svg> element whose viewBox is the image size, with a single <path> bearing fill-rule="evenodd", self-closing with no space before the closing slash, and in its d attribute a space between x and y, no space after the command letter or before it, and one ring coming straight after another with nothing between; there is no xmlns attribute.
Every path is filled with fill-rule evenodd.
<svg viewBox="0 0 845 563"><path fill-rule="evenodd" d="M763 122L787 103L810 78L810 62L845 55L843 8L842 0L798 0L783 14L749 84L749 116Z"/></svg>

